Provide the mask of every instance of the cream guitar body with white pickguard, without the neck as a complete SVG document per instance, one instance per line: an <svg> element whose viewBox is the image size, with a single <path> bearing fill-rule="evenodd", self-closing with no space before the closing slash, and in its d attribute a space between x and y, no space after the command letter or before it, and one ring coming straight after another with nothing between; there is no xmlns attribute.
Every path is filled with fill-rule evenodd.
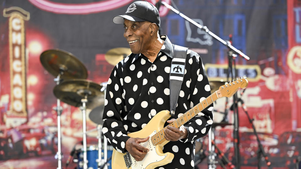
<svg viewBox="0 0 301 169"><path fill-rule="evenodd" d="M164 124L167 119L169 119L171 115L169 115L169 111L163 110L160 111L158 114L156 114L148 123L147 125L140 131L130 133L128 136L130 137L138 137L138 138L145 138L147 136L153 136L156 134L156 132L161 131L164 127ZM128 155L130 157L130 160L132 164L129 168L131 169L152 169L156 168L157 166L162 166L165 164L168 164L170 161L172 161L174 155L172 153L163 153L162 147L168 143L169 141L163 141L161 144L153 145L151 139L146 142L148 144L147 147L150 151L147 152L146 156L142 161L135 161L135 159ZM144 144L144 143L140 143ZM127 165L124 160L124 153L120 153L113 150L112 155L112 168L113 169L127 169ZM128 165L129 166L129 165Z"/></svg>

